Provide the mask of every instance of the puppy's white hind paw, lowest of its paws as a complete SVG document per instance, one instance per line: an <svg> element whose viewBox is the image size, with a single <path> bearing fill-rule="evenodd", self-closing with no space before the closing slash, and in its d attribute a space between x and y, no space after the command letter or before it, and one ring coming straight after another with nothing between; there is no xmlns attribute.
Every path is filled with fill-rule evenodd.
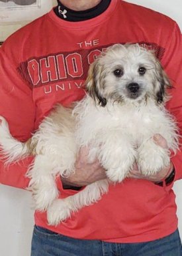
<svg viewBox="0 0 182 256"><path fill-rule="evenodd" d="M68 198L56 199L48 207L47 218L49 225L58 225L60 222L65 221L71 216L71 209Z"/></svg>

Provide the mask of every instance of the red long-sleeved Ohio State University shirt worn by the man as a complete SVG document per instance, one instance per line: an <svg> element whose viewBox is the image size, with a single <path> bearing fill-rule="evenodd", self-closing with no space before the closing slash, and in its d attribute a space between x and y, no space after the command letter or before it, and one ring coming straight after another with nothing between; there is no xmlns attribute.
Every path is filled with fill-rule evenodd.
<svg viewBox="0 0 182 256"><path fill-rule="evenodd" d="M94 19L71 23L50 11L7 39L0 50L0 114L13 136L26 140L57 102L68 106L83 97L81 85L94 57L114 43L140 43L156 50L173 82L167 104L182 126L181 35L176 23L149 9L120 0ZM25 188L30 160L4 170L0 181ZM181 178L181 152L172 158L176 179ZM151 241L177 228L175 195L145 180L125 180L57 227L48 226L46 213L35 213L36 225L81 239L112 242ZM77 193L64 191L62 197Z"/></svg>

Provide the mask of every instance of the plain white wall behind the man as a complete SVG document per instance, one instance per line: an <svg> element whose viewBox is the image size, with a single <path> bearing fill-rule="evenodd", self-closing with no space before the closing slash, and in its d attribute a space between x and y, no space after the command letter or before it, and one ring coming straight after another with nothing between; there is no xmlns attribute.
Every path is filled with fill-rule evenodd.
<svg viewBox="0 0 182 256"><path fill-rule="evenodd" d="M48 0L50 1L50 0ZM114 0L112 0L114 1ZM175 19L182 30L181 0L128 0L150 7ZM54 0L54 3L56 0ZM45 0L44 3L46 4ZM1 28L0 28L1 29ZM0 31L1 32L1 31ZM182 237L182 181L176 182L179 231ZM33 227L33 211L30 209L30 193L0 186L0 255L30 256L30 241ZM44 256L44 255L42 255Z"/></svg>

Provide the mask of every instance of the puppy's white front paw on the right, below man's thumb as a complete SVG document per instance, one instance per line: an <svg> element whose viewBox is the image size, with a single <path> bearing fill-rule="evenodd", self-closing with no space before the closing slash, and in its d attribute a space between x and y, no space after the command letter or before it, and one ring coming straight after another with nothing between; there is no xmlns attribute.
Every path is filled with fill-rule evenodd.
<svg viewBox="0 0 182 256"><path fill-rule="evenodd" d="M169 165L170 158L167 150L150 143L140 148L138 156L138 168L144 175L154 175Z"/></svg>

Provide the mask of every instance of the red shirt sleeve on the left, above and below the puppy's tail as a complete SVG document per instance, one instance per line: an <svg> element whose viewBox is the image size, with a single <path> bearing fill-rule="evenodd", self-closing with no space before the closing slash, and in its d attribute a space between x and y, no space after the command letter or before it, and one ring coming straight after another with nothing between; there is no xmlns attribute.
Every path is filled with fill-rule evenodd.
<svg viewBox="0 0 182 256"><path fill-rule="evenodd" d="M32 90L17 72L13 56L8 57L3 47L0 49L0 115L9 123L13 137L22 142L30 138L34 130L34 102ZM32 157L5 166L0 161L0 183L16 188L26 188L25 174Z"/></svg>

